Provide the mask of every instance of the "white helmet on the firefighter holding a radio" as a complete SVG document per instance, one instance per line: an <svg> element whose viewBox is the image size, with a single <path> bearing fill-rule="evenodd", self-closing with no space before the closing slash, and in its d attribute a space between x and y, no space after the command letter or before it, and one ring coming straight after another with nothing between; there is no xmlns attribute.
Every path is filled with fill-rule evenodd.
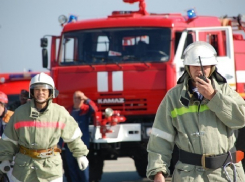
<svg viewBox="0 0 245 182"><path fill-rule="evenodd" d="M200 66L199 56L203 66L217 65L217 52L207 42L196 41L191 43L184 51L184 66Z"/></svg>

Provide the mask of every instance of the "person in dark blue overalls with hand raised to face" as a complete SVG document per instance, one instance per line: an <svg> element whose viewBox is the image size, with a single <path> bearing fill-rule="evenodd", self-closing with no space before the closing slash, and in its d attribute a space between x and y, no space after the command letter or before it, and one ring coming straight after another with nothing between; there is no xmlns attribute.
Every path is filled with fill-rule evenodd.
<svg viewBox="0 0 245 182"><path fill-rule="evenodd" d="M98 110L96 104L90 100L83 92L76 91L73 94L73 106L67 109L71 116L77 121L81 129L82 141L89 148L89 122ZM72 182L89 182L89 167L84 171L80 171L75 158L72 153L65 147L65 160L68 166L68 173Z"/></svg>

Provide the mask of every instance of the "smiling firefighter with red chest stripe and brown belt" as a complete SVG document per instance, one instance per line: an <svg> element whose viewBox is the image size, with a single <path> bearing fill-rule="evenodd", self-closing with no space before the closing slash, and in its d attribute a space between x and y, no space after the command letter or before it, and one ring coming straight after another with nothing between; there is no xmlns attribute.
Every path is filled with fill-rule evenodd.
<svg viewBox="0 0 245 182"><path fill-rule="evenodd" d="M88 166L88 149L77 122L67 110L52 103L57 96L53 79L40 73L30 82L30 102L15 110L0 140L0 169L15 156L12 180L63 182L60 137L77 158L81 170ZM5 172L2 170L2 172Z"/></svg>

